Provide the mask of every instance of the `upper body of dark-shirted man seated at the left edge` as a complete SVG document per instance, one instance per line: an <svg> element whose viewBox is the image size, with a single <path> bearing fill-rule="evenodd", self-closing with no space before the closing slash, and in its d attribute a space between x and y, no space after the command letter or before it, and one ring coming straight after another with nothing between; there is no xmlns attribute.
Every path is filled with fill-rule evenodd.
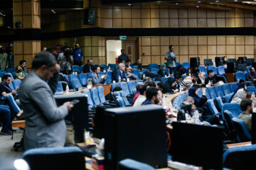
<svg viewBox="0 0 256 170"><path fill-rule="evenodd" d="M14 91L11 90L11 87L9 86L10 82L11 82L11 75L9 74L4 74L4 76L2 77L3 81L0 84L0 94L1 96L6 96L7 94L12 94L12 95L16 95L18 88L15 89Z"/></svg>

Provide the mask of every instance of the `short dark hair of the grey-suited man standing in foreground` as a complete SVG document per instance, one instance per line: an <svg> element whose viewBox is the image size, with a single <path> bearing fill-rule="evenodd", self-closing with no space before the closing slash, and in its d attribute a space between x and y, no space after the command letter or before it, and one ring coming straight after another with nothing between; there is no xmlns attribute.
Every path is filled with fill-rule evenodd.
<svg viewBox="0 0 256 170"><path fill-rule="evenodd" d="M57 64L55 57L50 52L39 52L32 61L32 69L39 69L46 65L47 68Z"/></svg>

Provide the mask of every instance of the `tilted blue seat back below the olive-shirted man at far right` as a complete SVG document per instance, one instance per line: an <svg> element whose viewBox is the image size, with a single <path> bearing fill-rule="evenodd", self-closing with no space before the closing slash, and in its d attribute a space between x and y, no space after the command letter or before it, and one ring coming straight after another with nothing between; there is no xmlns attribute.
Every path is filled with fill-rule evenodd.
<svg viewBox="0 0 256 170"><path fill-rule="evenodd" d="M238 118L232 118L232 121L235 127L235 132L238 134L240 139L239 142L247 142L252 140L252 136L250 135L249 130L247 130L245 123L242 120Z"/></svg>

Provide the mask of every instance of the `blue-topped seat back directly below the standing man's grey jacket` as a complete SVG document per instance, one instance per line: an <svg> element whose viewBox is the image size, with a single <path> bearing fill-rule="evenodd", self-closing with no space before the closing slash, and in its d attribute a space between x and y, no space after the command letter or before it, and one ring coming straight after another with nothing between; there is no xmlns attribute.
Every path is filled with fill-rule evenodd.
<svg viewBox="0 0 256 170"><path fill-rule="evenodd" d="M28 163L31 169L85 170L85 156L78 147L43 147L28 149L23 153L23 159Z"/></svg>

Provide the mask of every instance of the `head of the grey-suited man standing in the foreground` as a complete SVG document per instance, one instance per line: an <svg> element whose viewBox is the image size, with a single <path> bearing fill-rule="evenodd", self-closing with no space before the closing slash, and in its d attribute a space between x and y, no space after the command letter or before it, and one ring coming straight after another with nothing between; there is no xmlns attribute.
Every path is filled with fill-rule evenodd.
<svg viewBox="0 0 256 170"><path fill-rule="evenodd" d="M55 73L55 57L50 52L39 52L32 61L32 71L45 80Z"/></svg>

